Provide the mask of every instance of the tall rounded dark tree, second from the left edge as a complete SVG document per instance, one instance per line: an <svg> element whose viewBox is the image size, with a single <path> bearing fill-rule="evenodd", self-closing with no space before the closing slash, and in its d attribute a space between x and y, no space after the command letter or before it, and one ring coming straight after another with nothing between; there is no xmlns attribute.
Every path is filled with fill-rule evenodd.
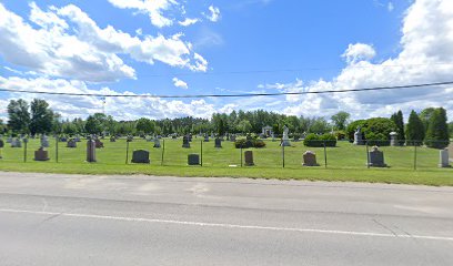
<svg viewBox="0 0 453 266"><path fill-rule="evenodd" d="M44 100L34 99L30 104L30 133L43 134L52 131L53 112Z"/></svg>

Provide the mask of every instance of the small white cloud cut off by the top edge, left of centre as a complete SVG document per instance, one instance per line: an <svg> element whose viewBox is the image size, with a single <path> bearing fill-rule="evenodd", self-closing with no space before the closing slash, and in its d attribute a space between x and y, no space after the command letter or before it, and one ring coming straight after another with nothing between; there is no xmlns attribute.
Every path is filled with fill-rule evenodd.
<svg viewBox="0 0 453 266"><path fill-rule="evenodd" d="M120 9L132 9L143 12L150 17L151 23L158 28L173 24L173 20L163 16L163 11L178 6L174 0L109 0Z"/></svg>

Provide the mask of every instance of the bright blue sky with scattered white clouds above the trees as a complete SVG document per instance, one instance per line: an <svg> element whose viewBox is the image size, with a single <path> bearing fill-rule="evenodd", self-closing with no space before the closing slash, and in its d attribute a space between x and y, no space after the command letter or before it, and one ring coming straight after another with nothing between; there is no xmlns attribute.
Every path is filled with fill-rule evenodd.
<svg viewBox="0 0 453 266"><path fill-rule="evenodd" d="M451 0L0 0L0 89L195 95L453 81ZM211 117L266 110L351 119L443 106L453 86L255 98L44 99L63 117ZM407 117L406 117L407 119Z"/></svg>

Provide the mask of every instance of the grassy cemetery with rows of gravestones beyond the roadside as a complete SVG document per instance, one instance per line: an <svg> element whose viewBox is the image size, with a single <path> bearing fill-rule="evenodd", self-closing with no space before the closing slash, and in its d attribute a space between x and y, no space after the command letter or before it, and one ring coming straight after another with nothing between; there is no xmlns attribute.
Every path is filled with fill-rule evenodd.
<svg viewBox="0 0 453 266"><path fill-rule="evenodd" d="M177 139L172 136L153 139L149 142L147 139L124 136L115 137L114 142L102 143L98 139L88 141L81 137L79 145L72 145L74 142L68 139L71 144L68 145L57 142L51 136L46 137L44 143L42 139L37 137L30 139L27 143L27 162L24 143L19 144L18 140L13 139L14 146L20 147L3 145L0 167L7 171L32 172L364 178L370 182L390 178L396 180L396 183L422 184L431 184L435 178L441 178L442 184L446 182L453 185L451 177L453 171L450 167L453 144L450 145L450 150L437 150L401 145L378 147L338 141L335 146L324 147L324 145L305 146L303 142L290 141L290 145L282 145L283 140L249 137L250 142L262 143L261 147L250 145L241 149L236 147L236 143L246 143L248 137L234 135L236 142L232 142L231 139L221 141L221 137L210 137L210 142L205 142L204 135L192 137L184 135ZM333 171L334 175L329 175ZM416 178L409 180L410 176Z"/></svg>

